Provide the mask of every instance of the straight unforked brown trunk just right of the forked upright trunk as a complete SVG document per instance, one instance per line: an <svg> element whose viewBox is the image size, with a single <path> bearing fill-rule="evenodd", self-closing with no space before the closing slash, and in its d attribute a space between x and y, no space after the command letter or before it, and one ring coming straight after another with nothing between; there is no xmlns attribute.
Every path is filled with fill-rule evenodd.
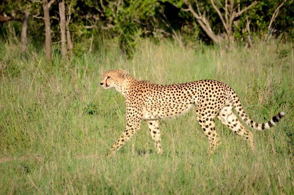
<svg viewBox="0 0 294 195"><path fill-rule="evenodd" d="M66 59L66 34L65 34L65 5L64 0L59 2L60 33L61 33L61 54Z"/></svg>

